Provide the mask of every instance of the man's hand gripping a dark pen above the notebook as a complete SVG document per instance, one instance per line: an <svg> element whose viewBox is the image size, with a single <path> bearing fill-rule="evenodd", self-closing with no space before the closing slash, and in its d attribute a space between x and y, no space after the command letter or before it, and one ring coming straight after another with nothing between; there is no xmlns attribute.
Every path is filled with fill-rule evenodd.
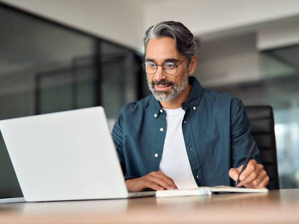
<svg viewBox="0 0 299 224"><path fill-rule="evenodd" d="M239 173L243 165L239 168L231 168L228 172L230 178L237 182ZM251 159L245 170L240 175L240 183L237 187L246 187L246 188L264 188L269 183L269 177L267 172L264 170L263 165L258 164L256 160Z"/></svg>

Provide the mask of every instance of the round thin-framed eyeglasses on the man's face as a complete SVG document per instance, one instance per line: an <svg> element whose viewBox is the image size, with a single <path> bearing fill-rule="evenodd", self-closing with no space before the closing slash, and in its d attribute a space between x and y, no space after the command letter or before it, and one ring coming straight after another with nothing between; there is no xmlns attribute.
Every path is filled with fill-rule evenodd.
<svg viewBox="0 0 299 224"><path fill-rule="evenodd" d="M186 58L188 58L189 55L187 57L185 57L184 60L186 60ZM156 73L156 71L158 70L158 66L162 66L163 68L163 71L170 75L170 76L173 76L176 74L177 72L177 67L184 61L182 60L178 65L176 65L175 63L173 62L164 62L163 64L161 65L157 65L156 63L154 62L151 62L151 61L147 61L147 62L144 62L143 63L143 69L145 70L145 72L149 75L152 75L154 73Z"/></svg>

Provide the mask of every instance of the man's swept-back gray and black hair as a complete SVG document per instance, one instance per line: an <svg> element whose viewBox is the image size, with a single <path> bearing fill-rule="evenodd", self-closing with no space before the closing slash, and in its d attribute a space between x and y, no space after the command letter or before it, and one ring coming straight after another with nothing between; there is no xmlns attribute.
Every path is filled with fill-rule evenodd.
<svg viewBox="0 0 299 224"><path fill-rule="evenodd" d="M150 26L144 38L145 53L148 42L151 38L170 37L175 42L176 50L184 56L195 55L197 50L197 43L190 32L190 30L180 22L164 21L159 22L154 26ZM190 58L187 58L187 64L190 62Z"/></svg>

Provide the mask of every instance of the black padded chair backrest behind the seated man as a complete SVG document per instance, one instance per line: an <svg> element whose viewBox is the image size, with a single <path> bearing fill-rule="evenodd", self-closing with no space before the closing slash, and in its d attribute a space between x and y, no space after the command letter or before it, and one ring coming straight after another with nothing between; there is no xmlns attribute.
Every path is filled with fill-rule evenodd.
<svg viewBox="0 0 299 224"><path fill-rule="evenodd" d="M260 150L260 159L270 177L267 188L279 189L274 117L271 106L245 107L251 123L251 135Z"/></svg>

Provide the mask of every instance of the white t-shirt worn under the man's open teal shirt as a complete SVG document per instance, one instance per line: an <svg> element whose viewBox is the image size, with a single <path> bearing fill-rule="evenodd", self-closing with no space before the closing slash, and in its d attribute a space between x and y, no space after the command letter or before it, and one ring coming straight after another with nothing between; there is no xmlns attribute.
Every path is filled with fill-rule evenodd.
<svg viewBox="0 0 299 224"><path fill-rule="evenodd" d="M166 137L159 170L172 178L178 189L198 188L192 175L182 131L185 111L163 109L166 112Z"/></svg>

